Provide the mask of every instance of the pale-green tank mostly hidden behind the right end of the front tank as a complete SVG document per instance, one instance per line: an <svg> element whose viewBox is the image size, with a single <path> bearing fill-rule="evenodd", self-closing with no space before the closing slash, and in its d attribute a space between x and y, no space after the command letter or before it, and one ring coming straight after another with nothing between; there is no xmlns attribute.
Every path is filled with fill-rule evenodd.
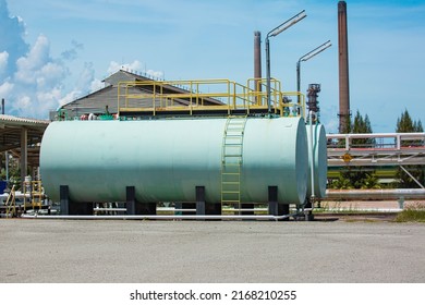
<svg viewBox="0 0 425 305"><path fill-rule="evenodd" d="M325 126L321 124L305 125L308 143L308 184L307 197L325 198L328 174L328 157ZM312 138L313 137L313 138ZM313 146L312 146L313 145ZM312 155L314 162L314 187L312 188Z"/></svg>

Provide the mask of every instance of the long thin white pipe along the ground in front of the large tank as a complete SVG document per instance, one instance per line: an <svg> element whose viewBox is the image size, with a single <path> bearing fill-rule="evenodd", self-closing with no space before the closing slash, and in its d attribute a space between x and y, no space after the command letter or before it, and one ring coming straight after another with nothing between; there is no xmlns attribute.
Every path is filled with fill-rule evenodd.
<svg viewBox="0 0 425 305"><path fill-rule="evenodd" d="M28 219L68 219L68 220L283 220L299 213L272 215L22 215Z"/></svg>

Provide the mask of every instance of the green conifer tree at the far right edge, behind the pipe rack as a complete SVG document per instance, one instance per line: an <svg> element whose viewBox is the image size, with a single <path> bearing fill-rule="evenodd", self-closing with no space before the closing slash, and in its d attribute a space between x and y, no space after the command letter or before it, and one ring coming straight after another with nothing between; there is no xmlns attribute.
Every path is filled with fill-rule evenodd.
<svg viewBox="0 0 425 305"><path fill-rule="evenodd" d="M414 121L412 120L409 111L405 109L404 112L401 113L401 117L397 120L397 133L416 133L424 132L421 120ZM424 145L421 141L403 141L401 142L401 146L418 146ZM417 181L424 181L424 166L404 166L404 169L409 171ZM402 169L398 169L397 174L399 188L415 188L418 187L417 183Z"/></svg>

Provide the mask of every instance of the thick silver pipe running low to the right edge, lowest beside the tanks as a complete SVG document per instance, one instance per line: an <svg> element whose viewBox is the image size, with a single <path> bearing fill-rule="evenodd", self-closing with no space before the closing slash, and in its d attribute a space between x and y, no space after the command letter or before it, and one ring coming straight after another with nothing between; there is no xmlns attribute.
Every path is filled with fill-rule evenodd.
<svg viewBox="0 0 425 305"><path fill-rule="evenodd" d="M423 188L327 190L325 199L425 199Z"/></svg>

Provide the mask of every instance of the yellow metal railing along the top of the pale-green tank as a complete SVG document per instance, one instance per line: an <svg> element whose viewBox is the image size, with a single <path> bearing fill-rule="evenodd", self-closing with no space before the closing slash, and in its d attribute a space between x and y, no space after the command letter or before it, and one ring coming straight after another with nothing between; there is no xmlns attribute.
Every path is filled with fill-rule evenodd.
<svg viewBox="0 0 425 305"><path fill-rule="evenodd" d="M231 114L234 110L244 110L250 114L253 110L267 109L267 95L263 90L264 81L253 87L229 80L198 80L198 81L141 81L120 82L118 84L118 109L120 112L148 111L156 115L160 111L217 111L227 110ZM260 84L260 85L258 85ZM271 100L274 112L288 115L283 112L284 93L280 82L274 80Z"/></svg>

